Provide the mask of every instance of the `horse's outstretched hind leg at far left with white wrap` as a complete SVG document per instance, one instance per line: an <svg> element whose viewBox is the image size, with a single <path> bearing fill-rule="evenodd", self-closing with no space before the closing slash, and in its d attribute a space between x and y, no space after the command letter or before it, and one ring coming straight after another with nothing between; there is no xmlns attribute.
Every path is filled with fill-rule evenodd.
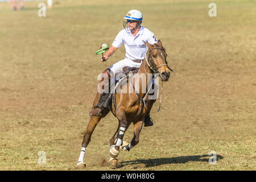
<svg viewBox="0 0 256 182"><path fill-rule="evenodd" d="M108 113L109 113L109 110L104 111L104 113L101 113L101 115L99 117L96 117L96 116L90 117L90 121L87 125L84 139L82 140L82 149L80 152L79 160L77 162L77 168L85 168L84 155L85 155L85 149L90 142L90 137L92 136L92 133L93 133L95 127L97 126L98 122L100 122L101 118L104 118Z"/></svg>

